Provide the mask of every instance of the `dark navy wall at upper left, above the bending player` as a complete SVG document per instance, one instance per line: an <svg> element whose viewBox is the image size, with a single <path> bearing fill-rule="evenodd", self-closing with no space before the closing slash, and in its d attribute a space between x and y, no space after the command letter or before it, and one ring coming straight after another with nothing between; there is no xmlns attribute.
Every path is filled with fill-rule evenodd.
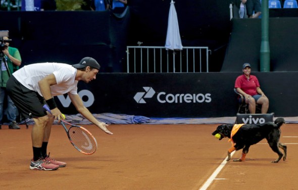
<svg viewBox="0 0 298 190"><path fill-rule="evenodd" d="M122 72L129 11L116 18L109 11L0 12L0 30L9 30L22 66L36 62L76 64L94 57L102 72ZM5 18L5 19L4 19Z"/></svg>

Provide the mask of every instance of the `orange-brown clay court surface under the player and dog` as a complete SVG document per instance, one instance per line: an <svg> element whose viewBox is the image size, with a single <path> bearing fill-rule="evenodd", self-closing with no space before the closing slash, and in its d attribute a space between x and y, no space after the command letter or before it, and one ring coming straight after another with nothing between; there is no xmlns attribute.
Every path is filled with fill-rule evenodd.
<svg viewBox="0 0 298 190"><path fill-rule="evenodd" d="M99 145L89 156L72 147L61 125L54 125L48 151L67 162L56 171L29 169L32 126L3 126L0 189L297 189L298 124L281 127L288 155L277 164L271 163L277 154L264 140L251 147L245 162L225 162L230 143L211 136L217 125L113 124L112 136L84 125ZM237 151L232 158L240 154ZM220 165L222 169L209 179Z"/></svg>

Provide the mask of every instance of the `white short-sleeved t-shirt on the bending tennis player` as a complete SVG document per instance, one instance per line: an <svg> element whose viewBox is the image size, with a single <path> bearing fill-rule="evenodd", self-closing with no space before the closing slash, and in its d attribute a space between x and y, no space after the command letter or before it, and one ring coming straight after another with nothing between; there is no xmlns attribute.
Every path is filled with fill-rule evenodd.
<svg viewBox="0 0 298 190"><path fill-rule="evenodd" d="M57 84L51 86L51 91L53 96L58 96L68 92L78 94L78 81L75 81L76 73L77 69L71 65L57 62L43 62L24 66L14 72L13 76L26 88L38 92L42 96L38 81L47 75L54 74Z"/></svg>

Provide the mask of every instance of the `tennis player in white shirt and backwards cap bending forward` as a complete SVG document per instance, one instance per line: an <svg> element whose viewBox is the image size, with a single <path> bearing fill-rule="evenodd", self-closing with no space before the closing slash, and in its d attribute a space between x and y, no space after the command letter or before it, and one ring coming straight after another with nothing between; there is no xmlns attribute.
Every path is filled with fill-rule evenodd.
<svg viewBox="0 0 298 190"><path fill-rule="evenodd" d="M66 166L65 162L47 155L52 124L55 119L62 118L54 96L67 93L79 113L107 134L113 134L106 123L98 121L90 113L77 93L78 81L89 83L94 80L100 67L95 59L84 57L76 65L44 62L24 66L13 73L7 82L8 93L24 118L32 117L35 122L31 134L33 158L30 169L56 170ZM52 114L44 110L44 102Z"/></svg>

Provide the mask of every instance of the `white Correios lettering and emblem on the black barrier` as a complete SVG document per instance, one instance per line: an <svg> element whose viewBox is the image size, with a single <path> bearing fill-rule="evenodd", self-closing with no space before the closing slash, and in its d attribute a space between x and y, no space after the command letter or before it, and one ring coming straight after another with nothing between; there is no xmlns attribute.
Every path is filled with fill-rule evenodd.
<svg viewBox="0 0 298 190"><path fill-rule="evenodd" d="M137 103L146 103L144 98L152 98L155 95L155 90L152 87L143 87L145 92L137 92L134 95L134 100ZM157 100L160 103L202 103L211 102L211 94L170 94L166 92L159 92L157 94Z"/></svg>

